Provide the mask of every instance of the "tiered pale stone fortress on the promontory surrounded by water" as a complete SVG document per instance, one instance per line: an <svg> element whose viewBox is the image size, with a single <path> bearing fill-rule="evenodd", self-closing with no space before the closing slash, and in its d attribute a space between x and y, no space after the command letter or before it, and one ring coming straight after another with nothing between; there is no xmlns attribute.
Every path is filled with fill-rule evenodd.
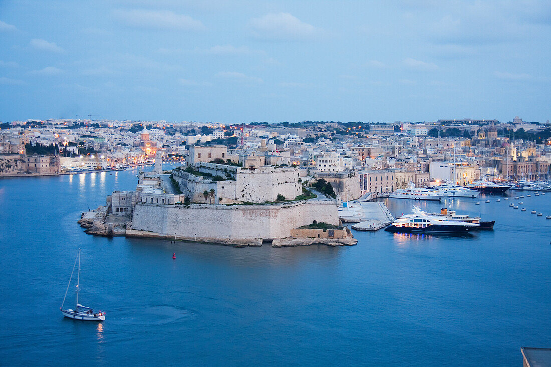
<svg viewBox="0 0 551 367"><path fill-rule="evenodd" d="M198 159L190 159L187 168L163 174L157 165L152 174L139 175L136 191L113 192L106 206L84 212L79 223L90 234L237 247L263 242L272 246L356 244L350 231L339 226L334 199L303 195L298 168L266 166L258 156L228 157L225 147L219 146L195 147L190 158L191 154ZM225 159L226 164L203 157ZM316 223L327 228L315 228Z"/></svg>

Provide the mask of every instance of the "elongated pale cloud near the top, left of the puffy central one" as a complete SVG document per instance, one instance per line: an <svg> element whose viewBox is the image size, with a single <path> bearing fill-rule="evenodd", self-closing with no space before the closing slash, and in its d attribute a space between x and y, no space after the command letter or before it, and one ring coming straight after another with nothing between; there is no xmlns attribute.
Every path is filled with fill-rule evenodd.
<svg viewBox="0 0 551 367"><path fill-rule="evenodd" d="M115 17L123 23L137 28L192 30L205 29L200 20L195 20L188 15L176 14L166 10L115 10Z"/></svg>

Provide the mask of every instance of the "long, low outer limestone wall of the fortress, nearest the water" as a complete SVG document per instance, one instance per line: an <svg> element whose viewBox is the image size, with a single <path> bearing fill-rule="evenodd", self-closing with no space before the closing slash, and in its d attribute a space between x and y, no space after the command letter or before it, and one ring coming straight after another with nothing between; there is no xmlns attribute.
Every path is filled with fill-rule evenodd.
<svg viewBox="0 0 551 367"><path fill-rule="evenodd" d="M314 220L337 225L338 208L334 201L233 206L192 204L187 208L137 203L132 228L225 242L286 238L291 235L291 229L311 224Z"/></svg>

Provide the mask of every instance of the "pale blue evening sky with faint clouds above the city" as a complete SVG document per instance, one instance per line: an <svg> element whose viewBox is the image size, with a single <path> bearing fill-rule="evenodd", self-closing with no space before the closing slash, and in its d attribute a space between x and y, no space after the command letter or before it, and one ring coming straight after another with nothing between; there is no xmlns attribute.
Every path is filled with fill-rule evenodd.
<svg viewBox="0 0 551 367"><path fill-rule="evenodd" d="M551 119L548 0L0 0L0 121Z"/></svg>

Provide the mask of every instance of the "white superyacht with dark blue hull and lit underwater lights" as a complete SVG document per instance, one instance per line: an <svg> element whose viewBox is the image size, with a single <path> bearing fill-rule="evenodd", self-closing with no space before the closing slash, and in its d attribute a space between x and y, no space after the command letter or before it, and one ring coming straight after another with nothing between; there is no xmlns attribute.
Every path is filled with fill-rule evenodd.
<svg viewBox="0 0 551 367"><path fill-rule="evenodd" d="M466 233L479 226L475 223L443 219L440 216L426 214L419 210L396 219L385 230L401 233Z"/></svg>

